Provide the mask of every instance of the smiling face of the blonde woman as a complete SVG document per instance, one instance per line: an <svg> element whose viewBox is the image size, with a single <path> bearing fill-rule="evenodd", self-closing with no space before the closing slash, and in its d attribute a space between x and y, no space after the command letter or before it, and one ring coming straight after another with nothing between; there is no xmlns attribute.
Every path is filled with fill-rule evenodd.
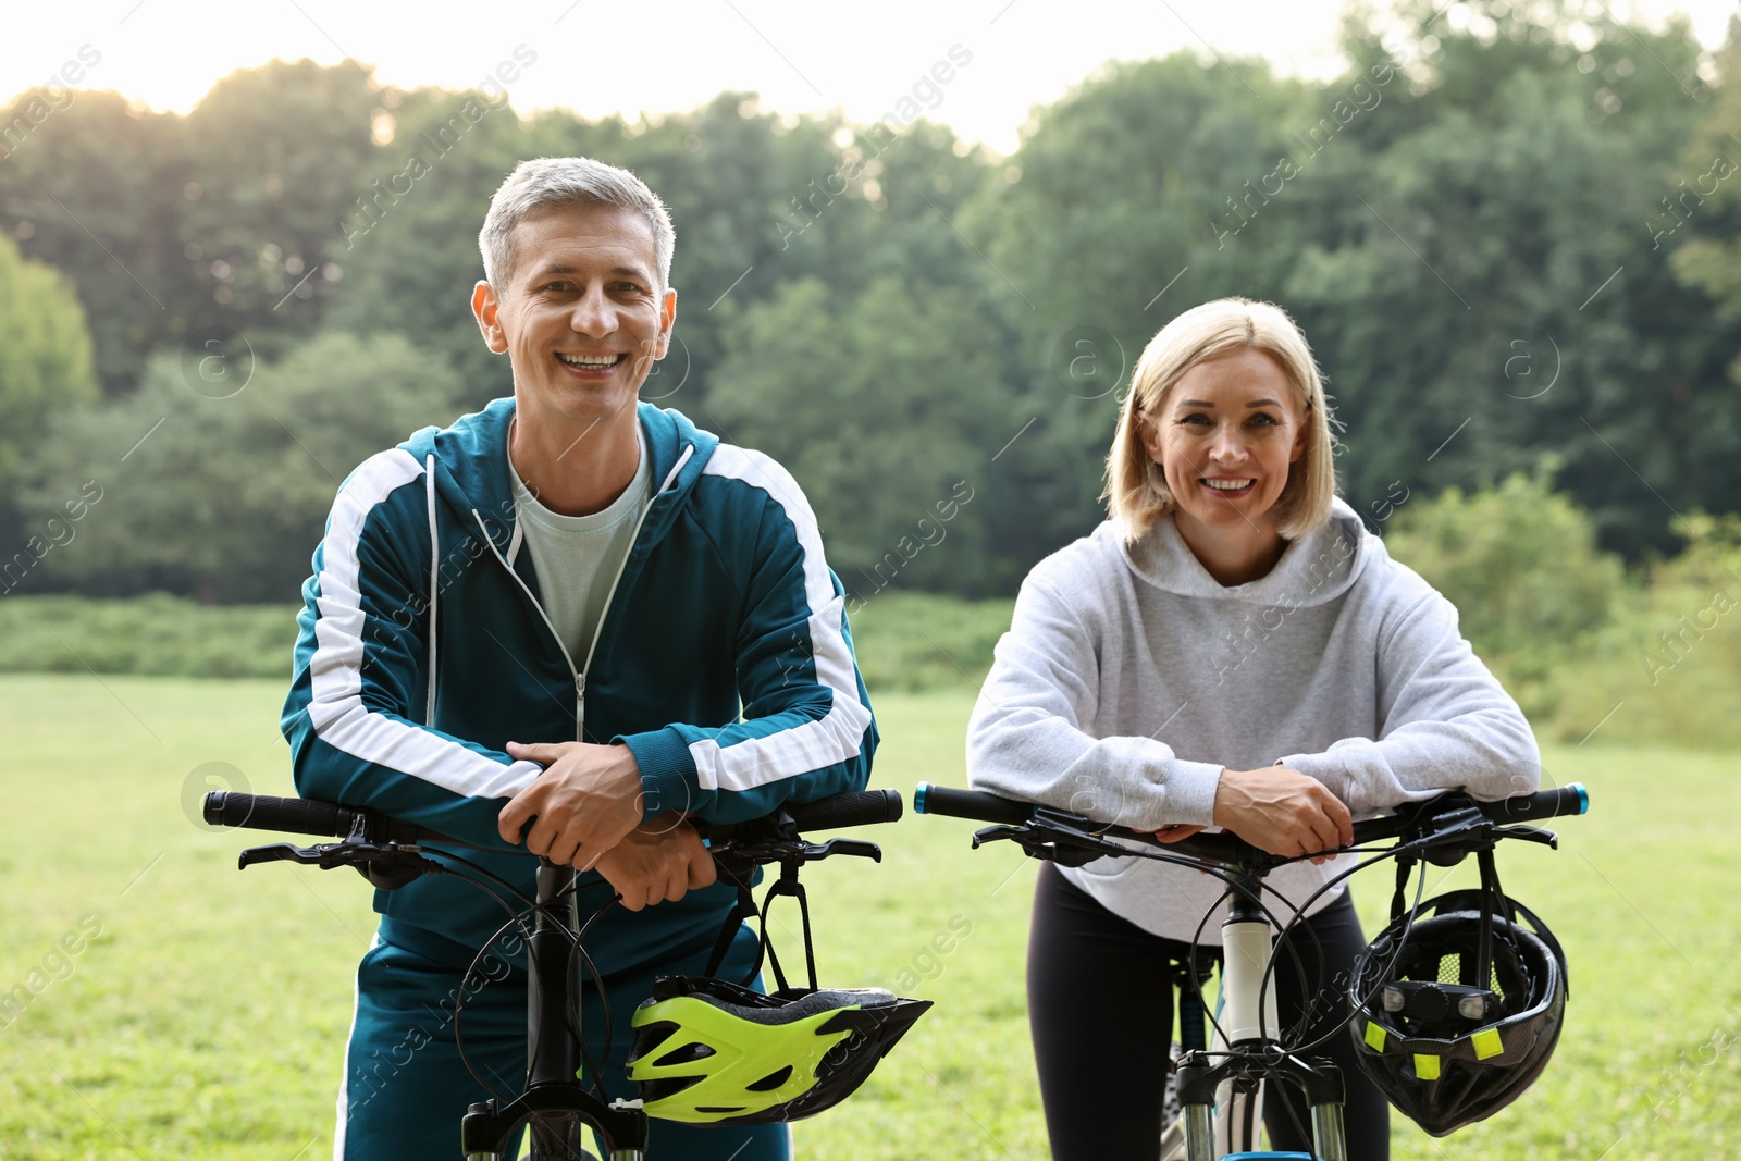
<svg viewBox="0 0 1741 1161"><path fill-rule="evenodd" d="M1196 364L1147 413L1142 437L1187 543L1280 536L1269 512L1306 451L1306 411L1267 353L1243 346Z"/></svg>

